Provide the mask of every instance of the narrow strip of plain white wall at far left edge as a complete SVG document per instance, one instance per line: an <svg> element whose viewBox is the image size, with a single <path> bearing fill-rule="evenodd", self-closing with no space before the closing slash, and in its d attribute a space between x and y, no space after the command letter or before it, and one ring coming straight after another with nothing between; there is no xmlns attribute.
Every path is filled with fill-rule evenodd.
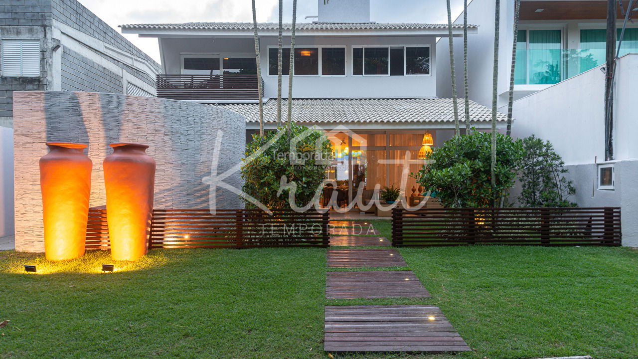
<svg viewBox="0 0 638 359"><path fill-rule="evenodd" d="M13 235L13 128L0 126L0 238Z"/></svg>

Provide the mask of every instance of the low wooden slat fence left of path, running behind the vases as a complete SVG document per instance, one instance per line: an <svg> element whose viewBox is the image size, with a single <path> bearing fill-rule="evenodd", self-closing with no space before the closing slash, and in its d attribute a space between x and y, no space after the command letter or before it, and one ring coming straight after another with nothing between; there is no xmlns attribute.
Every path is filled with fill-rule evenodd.
<svg viewBox="0 0 638 359"><path fill-rule="evenodd" d="M329 213L273 213L217 210L211 215L209 210L154 210L149 248L328 247ZM108 248L106 211L99 217L94 213L89 222L87 249ZM98 239L101 247L96 244Z"/></svg>

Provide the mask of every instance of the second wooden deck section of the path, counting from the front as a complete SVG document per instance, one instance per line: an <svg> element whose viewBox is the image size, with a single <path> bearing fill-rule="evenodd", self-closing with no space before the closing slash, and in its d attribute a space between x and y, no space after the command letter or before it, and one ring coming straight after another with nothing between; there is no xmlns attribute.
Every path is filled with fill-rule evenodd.
<svg viewBox="0 0 638 359"><path fill-rule="evenodd" d="M329 271L327 299L428 298L412 271Z"/></svg>

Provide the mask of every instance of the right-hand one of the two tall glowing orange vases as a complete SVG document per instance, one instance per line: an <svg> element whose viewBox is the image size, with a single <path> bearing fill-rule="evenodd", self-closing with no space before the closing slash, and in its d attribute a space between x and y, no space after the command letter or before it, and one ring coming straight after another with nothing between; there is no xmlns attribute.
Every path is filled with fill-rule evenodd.
<svg viewBox="0 0 638 359"><path fill-rule="evenodd" d="M148 145L111 144L113 153L104 159L107 190L108 237L115 261L137 261L148 249L155 160L146 154Z"/></svg>

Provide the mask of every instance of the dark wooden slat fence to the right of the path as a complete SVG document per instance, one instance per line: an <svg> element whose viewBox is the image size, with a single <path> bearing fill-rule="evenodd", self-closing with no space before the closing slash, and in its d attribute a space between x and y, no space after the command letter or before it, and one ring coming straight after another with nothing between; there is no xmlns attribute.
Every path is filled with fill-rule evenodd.
<svg viewBox="0 0 638 359"><path fill-rule="evenodd" d="M620 208L424 208L392 212L392 245L621 245Z"/></svg>

